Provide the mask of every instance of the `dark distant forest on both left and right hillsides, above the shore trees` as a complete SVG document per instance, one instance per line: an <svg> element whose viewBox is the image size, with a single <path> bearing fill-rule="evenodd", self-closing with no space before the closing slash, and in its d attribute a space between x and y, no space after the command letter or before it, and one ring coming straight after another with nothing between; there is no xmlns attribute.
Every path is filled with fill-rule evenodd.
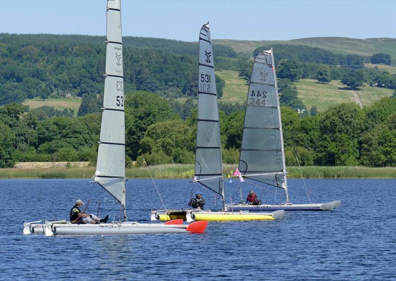
<svg viewBox="0 0 396 281"><path fill-rule="evenodd" d="M196 98L198 43L124 37L123 45L126 93L143 90L168 98ZM392 57L388 54L340 55L319 48L276 44L259 47L253 55L269 48L275 50L278 78L316 79L319 69L326 65L329 79L344 80L347 87L358 87L365 82L396 89L395 74L364 68L363 64L370 60L389 64ZM217 70L236 70L242 77L250 77L250 55L237 54L228 46L216 44L213 53ZM85 104L91 104L93 97L103 91L105 45L102 36L2 33L0 59L0 106L21 103L27 98L69 95L83 97ZM349 82L351 79L353 83ZM221 98L225 82L218 76L216 81ZM98 107L91 107L79 113L97 111Z"/></svg>

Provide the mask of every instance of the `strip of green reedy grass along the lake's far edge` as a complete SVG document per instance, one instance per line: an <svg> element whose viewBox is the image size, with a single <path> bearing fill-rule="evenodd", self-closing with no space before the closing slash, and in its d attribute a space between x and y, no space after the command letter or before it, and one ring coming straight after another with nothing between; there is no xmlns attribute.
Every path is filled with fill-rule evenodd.
<svg viewBox="0 0 396 281"><path fill-rule="evenodd" d="M236 165L224 165L227 175ZM193 165L150 166L154 178L193 178ZM288 167L289 178L300 178L298 167ZM396 168L302 167L305 178L396 178ZM0 169L0 178L92 178L95 168ZM147 168L126 169L128 178L149 178Z"/></svg>

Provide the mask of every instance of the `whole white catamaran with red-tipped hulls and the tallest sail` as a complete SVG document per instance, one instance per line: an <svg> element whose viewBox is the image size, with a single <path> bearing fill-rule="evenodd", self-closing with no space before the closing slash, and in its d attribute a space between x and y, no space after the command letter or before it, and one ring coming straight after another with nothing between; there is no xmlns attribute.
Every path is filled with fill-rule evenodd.
<svg viewBox="0 0 396 281"><path fill-rule="evenodd" d="M201 233L207 222L183 225L183 220L165 224L127 222L125 189L125 127L120 0L107 0L106 71L98 161L94 183L120 203L123 216L119 222L85 225L62 220L25 223L24 233L55 234L148 234ZM121 218L122 217L122 218Z"/></svg>

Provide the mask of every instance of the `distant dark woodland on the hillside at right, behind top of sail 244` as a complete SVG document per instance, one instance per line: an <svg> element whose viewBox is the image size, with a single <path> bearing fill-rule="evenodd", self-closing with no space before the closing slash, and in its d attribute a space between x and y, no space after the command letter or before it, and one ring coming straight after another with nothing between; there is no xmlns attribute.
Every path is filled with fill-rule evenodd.
<svg viewBox="0 0 396 281"><path fill-rule="evenodd" d="M278 78L287 78L293 81L300 79L318 79L327 83L331 80L341 80L350 88L357 88L363 83L389 89L396 89L396 74L380 71L374 68L365 68L364 63L391 64L389 54L374 54L371 57L358 55L333 54L319 48L296 45L261 46L254 50L256 56L262 50L274 49L276 73ZM253 60L242 65L240 76L249 79Z"/></svg>

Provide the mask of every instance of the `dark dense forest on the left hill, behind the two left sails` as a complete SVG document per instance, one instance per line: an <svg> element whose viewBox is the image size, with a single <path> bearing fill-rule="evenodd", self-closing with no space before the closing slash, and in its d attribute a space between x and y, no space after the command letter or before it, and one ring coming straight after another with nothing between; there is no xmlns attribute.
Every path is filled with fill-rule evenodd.
<svg viewBox="0 0 396 281"><path fill-rule="evenodd" d="M124 37L126 92L196 96L198 43ZM236 58L227 46L213 46L216 59ZM0 105L49 95L99 94L103 90L104 37L0 35ZM221 96L221 79L216 77Z"/></svg>

